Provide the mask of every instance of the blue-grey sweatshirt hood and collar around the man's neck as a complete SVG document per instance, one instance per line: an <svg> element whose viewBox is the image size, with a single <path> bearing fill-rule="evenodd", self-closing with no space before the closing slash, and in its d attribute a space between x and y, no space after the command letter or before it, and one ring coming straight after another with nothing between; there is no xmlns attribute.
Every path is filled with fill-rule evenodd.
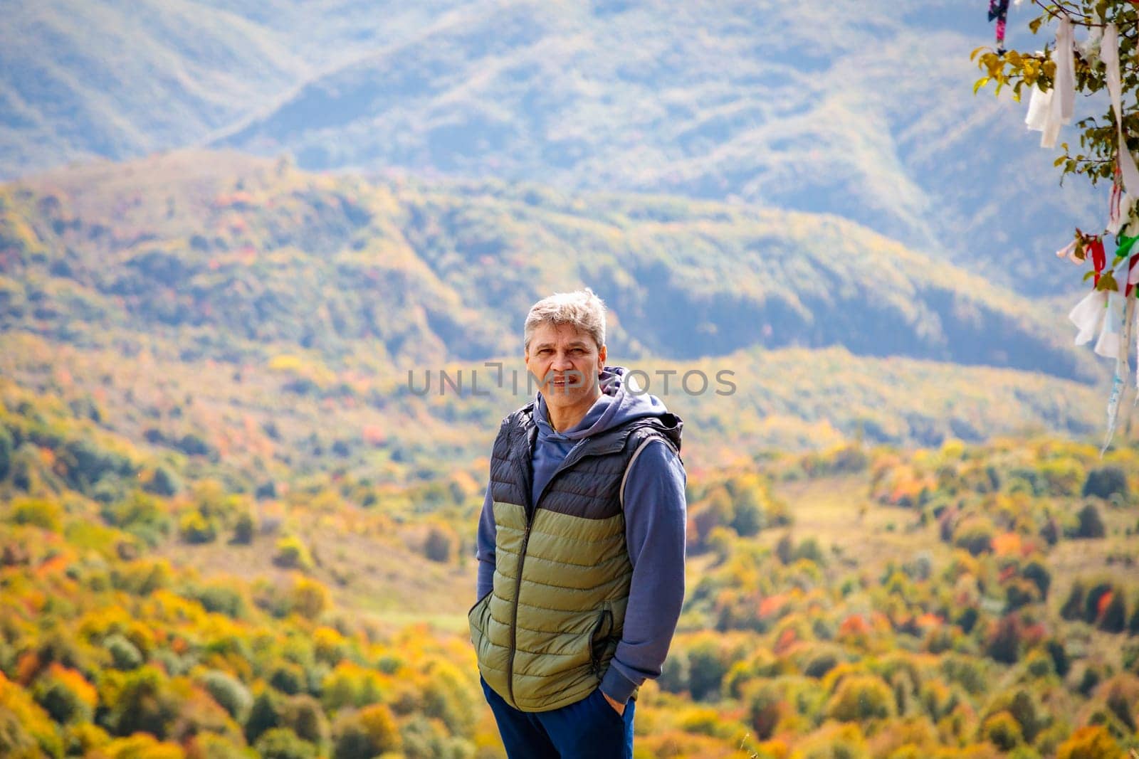
<svg viewBox="0 0 1139 759"><path fill-rule="evenodd" d="M642 416L664 416L669 413L664 402L648 393L630 393L626 388L629 370L624 366L605 366L598 383L601 395L580 422L565 431L557 431L549 422L546 399L539 393L534 404L534 423L538 426L538 440L534 443L533 464L533 503L538 503L542 488L554 477L577 443L587 437L593 437L605 430L620 427L625 422ZM680 426L680 420L675 420ZM679 432L679 429L678 429Z"/></svg>

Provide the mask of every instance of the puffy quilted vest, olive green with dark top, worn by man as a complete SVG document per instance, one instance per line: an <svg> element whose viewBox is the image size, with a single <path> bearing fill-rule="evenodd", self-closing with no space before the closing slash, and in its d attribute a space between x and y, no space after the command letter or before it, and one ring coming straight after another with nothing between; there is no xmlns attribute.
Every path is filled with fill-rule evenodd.
<svg viewBox="0 0 1139 759"><path fill-rule="evenodd" d="M494 584L467 618L487 685L522 711L548 711L589 695L609 666L632 576L625 470L650 439L679 452L682 422L665 413L587 438L531 504L533 412L531 402L503 419L494 440Z"/></svg>

